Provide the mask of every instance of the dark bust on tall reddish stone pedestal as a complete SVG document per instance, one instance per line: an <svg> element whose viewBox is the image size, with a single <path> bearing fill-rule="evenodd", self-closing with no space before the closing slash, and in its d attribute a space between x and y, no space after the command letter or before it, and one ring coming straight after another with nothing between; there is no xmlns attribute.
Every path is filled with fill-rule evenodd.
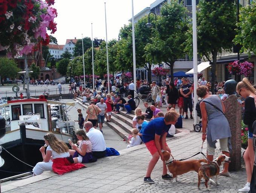
<svg viewBox="0 0 256 193"><path fill-rule="evenodd" d="M238 171L241 169L241 122L242 110L238 103L236 96L235 80L228 80L225 82L224 90L228 94L228 98L224 101L226 109L226 118L228 120L231 131L231 146L230 152L231 163L229 164L229 171Z"/></svg>

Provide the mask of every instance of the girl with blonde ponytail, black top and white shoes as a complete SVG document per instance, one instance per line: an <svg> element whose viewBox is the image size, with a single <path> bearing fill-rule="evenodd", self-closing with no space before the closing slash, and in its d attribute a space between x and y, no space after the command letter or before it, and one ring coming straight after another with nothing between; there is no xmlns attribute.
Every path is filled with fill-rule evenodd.
<svg viewBox="0 0 256 193"><path fill-rule="evenodd" d="M254 151L253 151L253 122L256 120L256 108L254 104L256 89L251 85L247 78L243 78L241 82L236 85L236 92L245 98L244 103L244 115L243 121L245 125L248 125L248 147L244 153L244 162L247 173L247 183L245 187L239 189L240 192L248 192L250 190L251 175L253 171L254 163Z"/></svg>

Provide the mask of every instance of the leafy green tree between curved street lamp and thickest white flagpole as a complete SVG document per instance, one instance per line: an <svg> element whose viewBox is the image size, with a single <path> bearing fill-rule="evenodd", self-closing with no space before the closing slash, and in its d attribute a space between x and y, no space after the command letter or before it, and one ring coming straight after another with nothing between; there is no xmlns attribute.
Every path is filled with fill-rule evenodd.
<svg viewBox="0 0 256 193"><path fill-rule="evenodd" d="M188 29L189 18L187 9L176 0L164 3L161 17L152 29L152 43L146 46L146 58L154 64L165 62L170 67L173 81L173 65L179 58L184 58L185 32Z"/></svg>

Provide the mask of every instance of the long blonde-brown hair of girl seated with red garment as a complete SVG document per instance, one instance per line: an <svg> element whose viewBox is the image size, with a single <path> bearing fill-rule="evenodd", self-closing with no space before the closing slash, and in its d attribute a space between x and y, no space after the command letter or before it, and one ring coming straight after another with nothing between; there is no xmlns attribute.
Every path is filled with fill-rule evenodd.
<svg viewBox="0 0 256 193"><path fill-rule="evenodd" d="M44 135L44 139L48 141L49 145L51 146L52 150L57 153L65 153L69 152L69 147L67 147L66 143L59 140L53 133L47 133Z"/></svg>

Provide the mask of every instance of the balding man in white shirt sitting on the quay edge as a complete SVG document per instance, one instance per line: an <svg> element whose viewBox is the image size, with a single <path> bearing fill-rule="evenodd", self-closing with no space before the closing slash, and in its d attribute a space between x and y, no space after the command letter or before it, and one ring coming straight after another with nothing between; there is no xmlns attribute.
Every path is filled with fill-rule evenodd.
<svg viewBox="0 0 256 193"><path fill-rule="evenodd" d="M86 135L89 137L92 143L92 154L97 158L103 158L106 156L106 143L103 134L100 130L95 129L92 122L87 121L84 123Z"/></svg>

